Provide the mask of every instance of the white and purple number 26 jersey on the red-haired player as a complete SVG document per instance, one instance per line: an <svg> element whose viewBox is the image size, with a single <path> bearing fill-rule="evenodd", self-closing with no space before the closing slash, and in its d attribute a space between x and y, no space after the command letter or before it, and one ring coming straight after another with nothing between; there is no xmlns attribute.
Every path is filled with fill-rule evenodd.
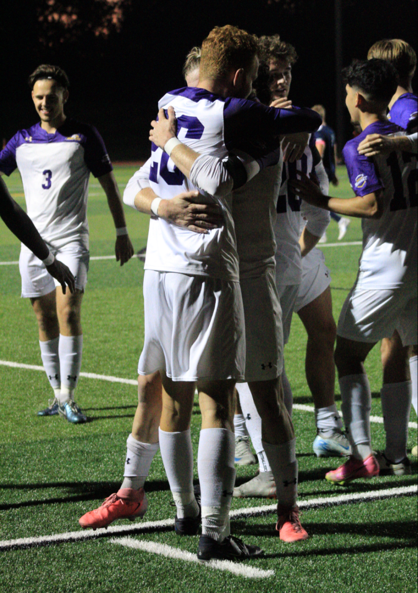
<svg viewBox="0 0 418 593"><path fill-rule="evenodd" d="M277 135L319 125L314 112L280 110L236 98L222 98L202 88L182 88L166 94L159 108L172 106L176 113L178 138L200 154L220 158L234 149L260 160L277 147ZM168 155L152 145L148 162L150 186L164 199L195 189L175 167ZM215 200L223 210L225 224L208 234L176 227L160 218L150 220L145 268L160 272L207 275L224 280L239 279L236 238L231 216L231 199Z"/></svg>

